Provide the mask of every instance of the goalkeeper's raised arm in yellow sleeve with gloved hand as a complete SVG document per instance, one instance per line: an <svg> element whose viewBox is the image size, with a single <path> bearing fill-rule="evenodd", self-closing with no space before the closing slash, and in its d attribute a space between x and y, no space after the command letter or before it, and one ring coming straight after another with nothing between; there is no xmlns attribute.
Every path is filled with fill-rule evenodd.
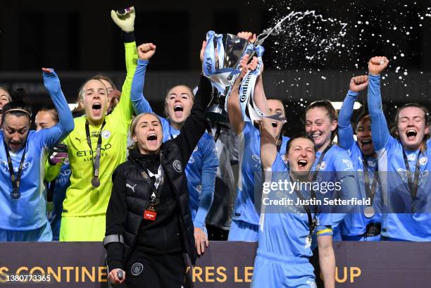
<svg viewBox="0 0 431 288"><path fill-rule="evenodd" d="M135 42L134 25L135 25L135 9L132 9L125 16L118 16L115 11L111 11L111 18L114 23L123 31L124 48L125 48L125 64L127 74L123 87L121 88L121 97L118 105L115 107L112 115L115 119L120 120L123 125L130 124L133 115L133 107L130 101L130 89L132 87L133 75L137 66L137 48Z"/></svg>

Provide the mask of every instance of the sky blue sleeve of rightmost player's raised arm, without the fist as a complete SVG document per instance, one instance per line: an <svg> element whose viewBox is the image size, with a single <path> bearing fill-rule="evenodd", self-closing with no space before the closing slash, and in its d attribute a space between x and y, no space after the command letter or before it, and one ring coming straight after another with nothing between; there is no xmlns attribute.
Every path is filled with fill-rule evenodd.
<svg viewBox="0 0 431 288"><path fill-rule="evenodd" d="M389 129L382 108L380 94L380 75L368 75L368 112L371 118L371 136L375 151L379 151L389 141Z"/></svg>

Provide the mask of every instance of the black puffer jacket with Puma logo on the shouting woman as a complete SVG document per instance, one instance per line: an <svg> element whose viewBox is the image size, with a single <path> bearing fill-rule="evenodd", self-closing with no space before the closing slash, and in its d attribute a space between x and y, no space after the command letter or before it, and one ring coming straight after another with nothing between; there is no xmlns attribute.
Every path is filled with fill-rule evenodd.
<svg viewBox="0 0 431 288"><path fill-rule="evenodd" d="M139 165L137 151L131 153L128 160L118 165L115 169L113 173L113 190L106 211L106 235L122 234L125 243L124 245L111 243L106 247L108 252L106 261L109 270L115 268L124 269L124 265L129 260L137 242L139 242L139 246L143 246L140 248L147 248L146 250L149 253L156 252L157 248L172 241L172 237L167 239L165 235L172 234L175 231L179 232L176 233L179 235L176 239L180 239L182 242L175 247L180 247L180 250L185 249L193 265L196 262L194 226L192 215L189 211L189 192L185 166L192 155L194 147L206 130L204 109L208 106L210 100L211 83L206 77L201 76L192 111L181 129L180 135L163 143L161 146L161 165L164 172L162 189L164 195L162 194L161 197L167 196L170 200L167 199L165 204L163 202L159 204L165 206L158 207L157 210L168 211L169 207L173 207L174 211L168 211L168 219L164 217L164 224L160 229L156 227L157 218L161 217L159 214L156 216L154 223L149 223L149 220L144 220L143 218L144 208L151 196L152 188L142 176L144 170L142 165ZM175 199L175 203L172 203L172 199ZM168 202L170 203L168 204ZM147 223L143 223L143 221ZM178 227L173 227L173 223L177 223ZM148 229L145 227L146 225L151 225L151 228ZM145 239L140 237L142 232L144 232L144 235L151 235L151 244L148 247L145 247ZM157 238L152 239L153 237ZM157 247L158 242L161 243L161 246ZM164 253L164 251L158 252ZM166 252L170 253L171 251Z"/></svg>

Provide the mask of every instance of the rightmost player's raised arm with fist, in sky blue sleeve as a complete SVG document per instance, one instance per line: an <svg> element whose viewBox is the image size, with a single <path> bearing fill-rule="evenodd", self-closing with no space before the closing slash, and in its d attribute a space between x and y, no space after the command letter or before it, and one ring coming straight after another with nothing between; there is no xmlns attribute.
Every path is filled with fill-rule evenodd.
<svg viewBox="0 0 431 288"><path fill-rule="evenodd" d="M371 118L371 136L375 151L379 151L389 141L389 129L382 108L382 95L380 94L380 73L387 67L389 60L386 57L373 57L368 62L368 112Z"/></svg>

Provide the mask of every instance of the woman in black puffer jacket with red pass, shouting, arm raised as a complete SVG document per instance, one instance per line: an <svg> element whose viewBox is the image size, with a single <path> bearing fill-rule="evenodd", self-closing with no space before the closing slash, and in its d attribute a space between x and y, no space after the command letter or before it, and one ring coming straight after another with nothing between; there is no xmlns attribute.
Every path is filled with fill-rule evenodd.
<svg viewBox="0 0 431 288"><path fill-rule="evenodd" d="M135 146L113 173L106 211L104 246L108 277L114 284L185 285L187 256L194 264L196 249L184 168L205 132L204 108L210 99L211 83L201 76L192 112L180 135L165 143L154 113L137 115L130 125Z"/></svg>

